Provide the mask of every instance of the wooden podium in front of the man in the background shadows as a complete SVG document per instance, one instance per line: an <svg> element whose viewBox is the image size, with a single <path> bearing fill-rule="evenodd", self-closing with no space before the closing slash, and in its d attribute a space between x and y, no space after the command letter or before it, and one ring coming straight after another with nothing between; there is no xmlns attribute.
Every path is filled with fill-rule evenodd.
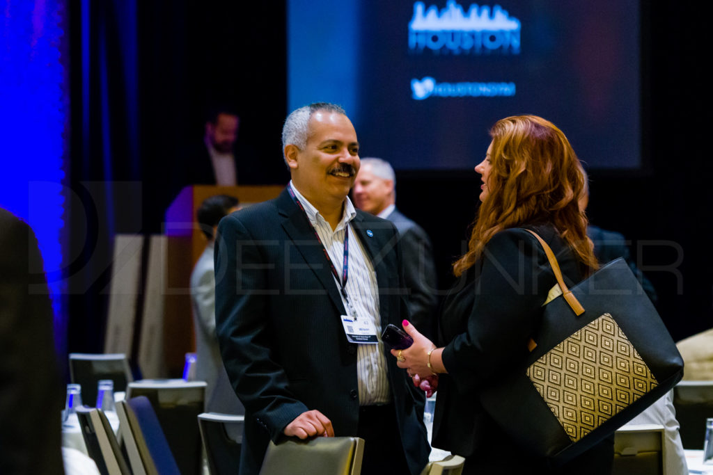
<svg viewBox="0 0 713 475"><path fill-rule="evenodd" d="M202 254L207 240L195 219L195 212L207 197L228 194L240 200L241 207L277 197L282 185L218 187L194 185L185 187L170 204L165 215L165 278L163 278L163 335L141 335L162 338L168 377L180 377L185 353L195 351L193 318L190 302L190 273ZM149 317L149 315L145 315ZM150 317L149 317L150 318Z"/></svg>

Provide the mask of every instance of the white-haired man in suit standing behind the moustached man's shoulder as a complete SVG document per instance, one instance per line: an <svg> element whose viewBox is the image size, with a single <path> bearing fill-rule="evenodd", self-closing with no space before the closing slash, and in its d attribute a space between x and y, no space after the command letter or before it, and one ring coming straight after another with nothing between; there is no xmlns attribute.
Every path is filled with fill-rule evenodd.
<svg viewBox="0 0 713 475"><path fill-rule="evenodd" d="M389 162L380 158L362 158L353 194L357 208L388 219L399 230L411 322L421 333L434 338L438 300L431 239L421 226L396 209L396 174Z"/></svg>

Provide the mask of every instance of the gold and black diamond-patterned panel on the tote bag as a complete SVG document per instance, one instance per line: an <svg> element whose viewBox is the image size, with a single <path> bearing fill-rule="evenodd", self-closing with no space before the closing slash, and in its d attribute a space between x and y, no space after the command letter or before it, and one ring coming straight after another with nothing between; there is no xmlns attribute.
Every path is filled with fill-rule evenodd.
<svg viewBox="0 0 713 475"><path fill-rule="evenodd" d="M543 355L527 375L573 442L658 385L609 313Z"/></svg>

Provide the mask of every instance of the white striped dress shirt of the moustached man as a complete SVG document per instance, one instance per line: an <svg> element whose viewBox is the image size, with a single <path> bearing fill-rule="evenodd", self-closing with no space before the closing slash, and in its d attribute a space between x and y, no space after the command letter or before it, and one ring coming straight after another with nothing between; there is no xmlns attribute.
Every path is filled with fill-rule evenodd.
<svg viewBox="0 0 713 475"><path fill-rule="evenodd" d="M344 258L344 229L349 226L349 271L347 278L347 296L352 308L356 312L356 318L365 318L374 322L376 335L379 335L378 345L356 345L356 367L357 380L359 382L359 405L369 406L373 404L386 404L391 402L391 390L389 388L389 377L386 369L386 357L384 357L384 343L381 342L381 317L379 316L379 286L376 283L376 272L374 266L364 251L359 237L354 232L354 227L350 224L356 209L352 201L347 197L344 201L344 213L342 220L332 231L332 226L319 214L317 209L297 191L292 182L289 182L299 202L302 203L304 211L307 212L309 222L317 231L319 239L322 239L324 248L327 249L329 259L332 260L334 268L342 278L342 259ZM332 273L334 277L334 273ZM334 277L334 285L341 289L342 284ZM347 300L342 296L344 309L349 312ZM335 315L334 318L339 318Z"/></svg>

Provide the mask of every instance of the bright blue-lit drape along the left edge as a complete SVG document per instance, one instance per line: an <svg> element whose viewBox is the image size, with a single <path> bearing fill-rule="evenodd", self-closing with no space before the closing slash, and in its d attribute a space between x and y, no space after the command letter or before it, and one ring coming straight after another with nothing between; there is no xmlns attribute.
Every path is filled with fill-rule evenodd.
<svg viewBox="0 0 713 475"><path fill-rule="evenodd" d="M0 10L0 207L39 241L63 352L68 73L65 0L8 0Z"/></svg>

